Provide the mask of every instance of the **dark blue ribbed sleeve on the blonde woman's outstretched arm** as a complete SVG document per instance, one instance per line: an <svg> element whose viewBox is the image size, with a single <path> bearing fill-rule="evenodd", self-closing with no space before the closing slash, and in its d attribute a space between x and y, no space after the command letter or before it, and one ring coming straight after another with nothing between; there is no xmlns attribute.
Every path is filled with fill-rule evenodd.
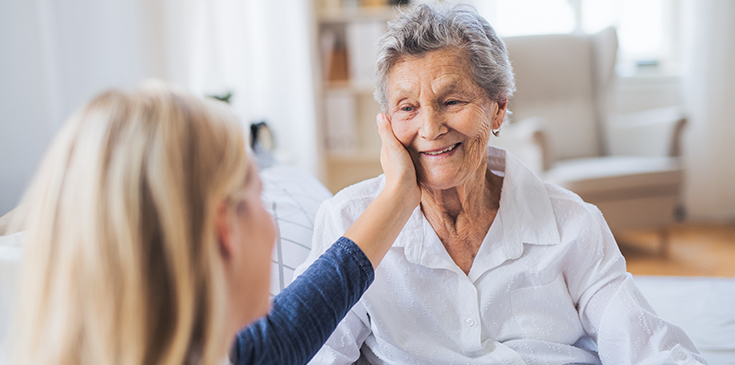
<svg viewBox="0 0 735 365"><path fill-rule="evenodd" d="M362 297L375 273L350 239L340 237L273 298L268 314L238 333L233 364L305 364Z"/></svg>

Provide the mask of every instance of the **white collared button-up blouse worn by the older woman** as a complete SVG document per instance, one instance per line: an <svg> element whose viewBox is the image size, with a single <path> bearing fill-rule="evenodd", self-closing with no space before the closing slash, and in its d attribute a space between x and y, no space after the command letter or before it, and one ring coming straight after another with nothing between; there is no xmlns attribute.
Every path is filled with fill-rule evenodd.
<svg viewBox="0 0 735 365"><path fill-rule="evenodd" d="M640 294L600 211L490 147L500 208L469 274L416 208L375 282L311 364L698 364ZM324 202L300 274L377 196L383 176Z"/></svg>

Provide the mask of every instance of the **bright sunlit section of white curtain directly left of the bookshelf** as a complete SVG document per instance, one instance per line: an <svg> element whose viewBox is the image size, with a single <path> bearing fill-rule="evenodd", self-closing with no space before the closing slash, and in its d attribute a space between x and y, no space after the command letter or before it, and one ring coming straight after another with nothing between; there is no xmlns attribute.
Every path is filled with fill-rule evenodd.
<svg viewBox="0 0 735 365"><path fill-rule="evenodd" d="M277 157L319 174L309 1L159 0L166 78L199 94L233 91L244 126L264 120ZM153 20L152 18L151 20ZM155 21L154 25L155 26Z"/></svg>

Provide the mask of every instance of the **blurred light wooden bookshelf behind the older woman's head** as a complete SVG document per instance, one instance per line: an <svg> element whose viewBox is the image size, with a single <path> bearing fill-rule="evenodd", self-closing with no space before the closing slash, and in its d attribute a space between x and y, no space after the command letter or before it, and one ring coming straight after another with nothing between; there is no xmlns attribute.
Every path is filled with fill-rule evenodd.
<svg viewBox="0 0 735 365"><path fill-rule="evenodd" d="M377 42L388 20L398 15L397 6L390 5L394 2L313 0L322 176L333 193L383 172L375 124L380 106L372 94Z"/></svg>

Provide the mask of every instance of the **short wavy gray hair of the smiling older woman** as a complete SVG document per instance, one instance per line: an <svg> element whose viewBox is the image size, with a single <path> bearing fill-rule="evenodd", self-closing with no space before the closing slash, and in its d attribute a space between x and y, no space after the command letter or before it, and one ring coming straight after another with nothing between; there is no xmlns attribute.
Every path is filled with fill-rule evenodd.
<svg viewBox="0 0 735 365"><path fill-rule="evenodd" d="M488 98L502 102L515 91L513 68L503 41L490 23L469 5L420 4L388 23L380 38L373 96L388 109L388 73L404 56L421 56L445 48L466 52L475 82Z"/></svg>

